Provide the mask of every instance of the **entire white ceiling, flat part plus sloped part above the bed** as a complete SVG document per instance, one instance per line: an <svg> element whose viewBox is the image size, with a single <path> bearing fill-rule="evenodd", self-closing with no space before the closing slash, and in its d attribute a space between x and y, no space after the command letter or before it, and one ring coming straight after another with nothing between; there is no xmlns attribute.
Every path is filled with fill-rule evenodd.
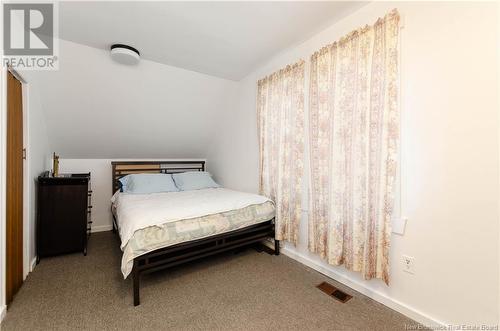
<svg viewBox="0 0 500 331"><path fill-rule="evenodd" d="M209 157L235 80L361 4L62 2L59 70L23 75L63 158ZM112 43L139 65L113 62Z"/></svg>

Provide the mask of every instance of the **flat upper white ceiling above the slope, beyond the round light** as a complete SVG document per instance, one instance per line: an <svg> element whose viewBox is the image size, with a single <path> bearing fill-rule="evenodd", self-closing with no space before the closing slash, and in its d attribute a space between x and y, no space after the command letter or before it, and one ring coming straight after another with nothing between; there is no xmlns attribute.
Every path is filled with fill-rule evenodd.
<svg viewBox="0 0 500 331"><path fill-rule="evenodd" d="M61 2L59 35L136 47L144 59L240 80L365 2Z"/></svg>

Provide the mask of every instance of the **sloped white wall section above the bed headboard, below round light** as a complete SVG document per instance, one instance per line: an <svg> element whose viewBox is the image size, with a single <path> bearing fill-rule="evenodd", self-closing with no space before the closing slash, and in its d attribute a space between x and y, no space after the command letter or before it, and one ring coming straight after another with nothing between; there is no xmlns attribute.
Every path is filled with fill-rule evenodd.
<svg viewBox="0 0 500 331"><path fill-rule="evenodd" d="M33 72L62 158L205 157L237 83L59 41L59 70Z"/></svg>

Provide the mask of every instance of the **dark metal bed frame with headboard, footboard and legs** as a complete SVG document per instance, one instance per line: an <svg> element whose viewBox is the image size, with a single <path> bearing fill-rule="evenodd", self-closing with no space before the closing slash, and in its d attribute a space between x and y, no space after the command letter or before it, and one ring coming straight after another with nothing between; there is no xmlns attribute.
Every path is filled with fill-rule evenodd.
<svg viewBox="0 0 500 331"><path fill-rule="evenodd" d="M111 162L113 193L119 190L119 179L134 173L180 173L186 171L205 171L205 161L119 161ZM113 212L113 232L117 222ZM245 246L255 245L275 238L274 218L231 232L183 242L161 248L138 256L132 269L134 306L140 304L140 278L158 270L174 267L186 262L202 259L222 252L234 251ZM274 240L273 254L279 255L279 240Z"/></svg>

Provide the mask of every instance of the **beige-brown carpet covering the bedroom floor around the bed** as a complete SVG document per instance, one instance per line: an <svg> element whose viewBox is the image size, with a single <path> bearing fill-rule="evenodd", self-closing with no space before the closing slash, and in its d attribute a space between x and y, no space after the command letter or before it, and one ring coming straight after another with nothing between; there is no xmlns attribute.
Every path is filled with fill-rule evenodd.
<svg viewBox="0 0 500 331"><path fill-rule="evenodd" d="M402 330L403 315L284 255L248 249L143 277L141 305L120 273L110 232L89 252L43 259L9 307L2 330ZM353 295L345 304L315 286Z"/></svg>

